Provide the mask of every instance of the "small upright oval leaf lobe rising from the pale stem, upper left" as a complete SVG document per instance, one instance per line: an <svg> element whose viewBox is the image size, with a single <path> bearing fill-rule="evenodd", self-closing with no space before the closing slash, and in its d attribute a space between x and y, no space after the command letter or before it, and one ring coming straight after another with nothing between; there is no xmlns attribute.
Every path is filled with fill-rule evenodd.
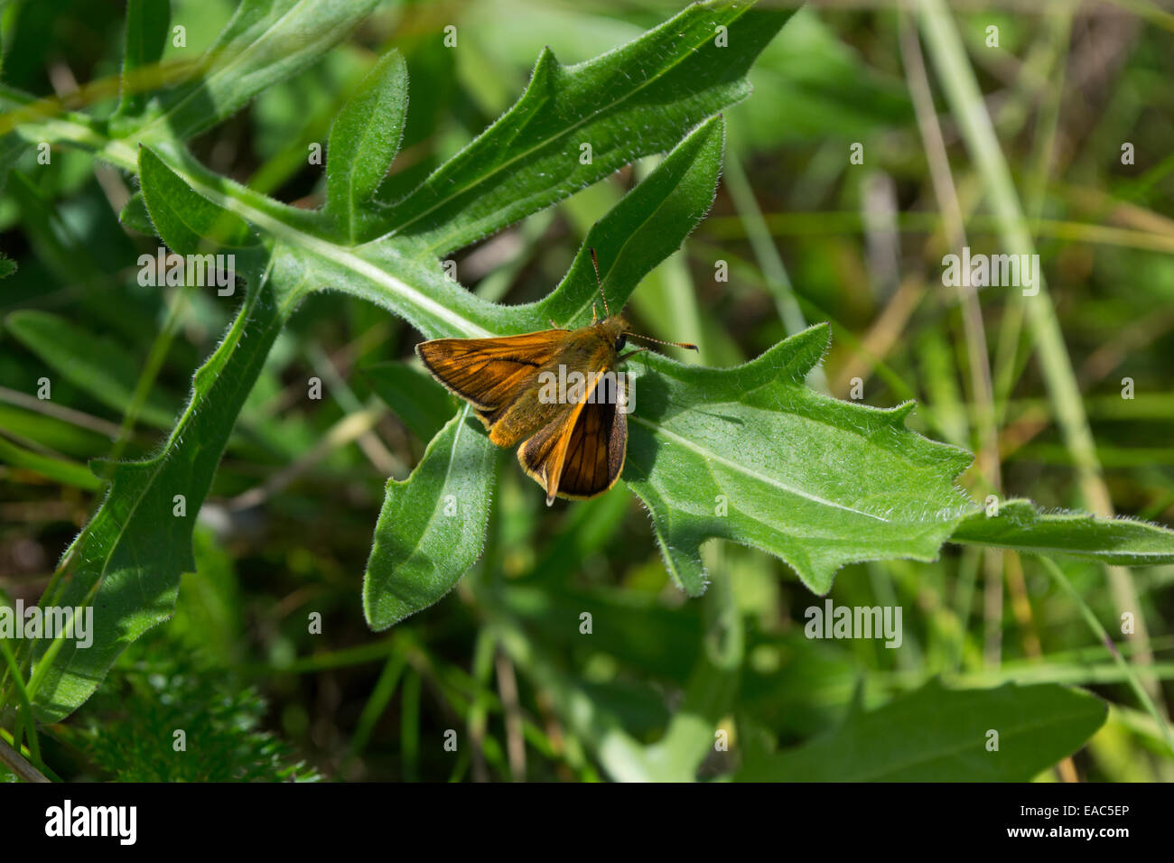
<svg viewBox="0 0 1174 863"><path fill-rule="evenodd" d="M391 167L407 116L407 66L387 52L343 106L330 129L326 210L353 242L356 208L366 202Z"/></svg>

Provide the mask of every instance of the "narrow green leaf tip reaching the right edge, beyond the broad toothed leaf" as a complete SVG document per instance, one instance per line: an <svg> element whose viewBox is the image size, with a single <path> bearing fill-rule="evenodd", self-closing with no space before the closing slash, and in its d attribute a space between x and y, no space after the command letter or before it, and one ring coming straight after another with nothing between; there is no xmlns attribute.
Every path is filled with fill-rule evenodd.
<svg viewBox="0 0 1174 863"><path fill-rule="evenodd" d="M992 545L1035 554L1067 554L1116 566L1174 562L1174 531L1148 521L1040 511L1030 500L1006 500L998 514L964 519L951 542Z"/></svg>

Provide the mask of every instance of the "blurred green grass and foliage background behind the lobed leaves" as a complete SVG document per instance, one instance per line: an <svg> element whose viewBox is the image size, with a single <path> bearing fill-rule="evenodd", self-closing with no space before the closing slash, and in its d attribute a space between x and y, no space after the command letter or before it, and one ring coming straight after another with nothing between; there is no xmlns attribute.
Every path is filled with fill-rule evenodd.
<svg viewBox="0 0 1174 863"><path fill-rule="evenodd" d="M169 43L164 65L211 45L236 7L170 6L187 47ZM753 95L722 112L709 216L642 281L634 326L729 366L829 322L809 384L849 398L855 382L875 406L917 399L911 429L977 453L959 480L974 499L1102 512L1112 501L1168 525L1174 18L1146 2L920 6L814 4L762 50ZM394 47L410 101L390 182L407 189L514 102L544 47L580 62L677 11L378 4L189 147L216 174L319 207L326 173L308 153L325 148ZM36 97L116 82L123 28L115 0L0 2L0 81ZM82 93L97 115L117 101L116 88ZM993 153L976 144L987 117ZM0 283L0 595L26 602L101 500L85 463L155 452L236 311L207 289L139 285L135 262L158 241L120 224L136 188L127 171L79 147L54 144L47 166L36 155L6 166L0 197L0 250L18 264ZM463 249L460 283L506 304L545 297L592 225L659 163L637 160ZM1007 248L1016 205L1043 259L1059 353L1014 291L942 284L947 251ZM362 579L384 484L406 478L427 444L385 372L419 338L355 296L301 304L216 472L175 618L122 653L75 714L40 726L38 751L26 740L33 763L62 780L1174 777L1155 719L1174 677L1169 565L1124 575L1147 639L1118 634L1100 564L1061 560L1058 574L1013 551L946 545L935 562L836 577L836 605L903 608L899 649L811 640L804 611L823 600L778 559L710 542L713 584L687 598L622 483L547 510L504 453L477 565L439 604L372 633ZM1065 369L1079 390L1058 399L1050 385ZM49 403L31 396L43 375ZM321 400L308 398L312 377ZM1065 430L1084 418L1082 446ZM1089 618L1148 667L1140 686ZM1005 683L1019 686L991 689ZM15 700L0 714L9 743L19 715ZM1003 760L984 747L991 722L1017 741Z"/></svg>

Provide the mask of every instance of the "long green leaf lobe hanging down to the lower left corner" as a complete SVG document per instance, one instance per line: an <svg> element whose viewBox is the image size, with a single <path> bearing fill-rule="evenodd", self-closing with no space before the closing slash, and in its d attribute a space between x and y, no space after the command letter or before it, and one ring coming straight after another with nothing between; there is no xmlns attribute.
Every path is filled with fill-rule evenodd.
<svg viewBox="0 0 1174 863"><path fill-rule="evenodd" d="M232 422L285 321L291 301L275 295L250 256L249 291L216 352L196 372L191 400L154 458L103 464L110 487L66 551L41 604L93 606L93 645L33 641L29 694L39 722L77 708L135 639L168 620L180 574L190 572L191 528L211 486ZM181 501L176 495L182 495ZM28 642L25 642L28 643Z"/></svg>

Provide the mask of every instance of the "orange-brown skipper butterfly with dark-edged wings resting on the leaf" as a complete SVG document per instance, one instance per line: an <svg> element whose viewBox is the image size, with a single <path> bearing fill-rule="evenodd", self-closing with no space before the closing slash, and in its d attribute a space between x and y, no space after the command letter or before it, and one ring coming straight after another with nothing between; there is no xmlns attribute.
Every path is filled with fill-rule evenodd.
<svg viewBox="0 0 1174 863"><path fill-rule="evenodd" d="M438 338L416 352L450 391L468 402L498 446L518 445L522 470L556 497L585 500L620 478L628 449L629 382L616 373L621 362L648 350L623 353L629 338L687 348L632 332L612 315L591 249L605 317L592 306L592 322L578 330L553 329L500 338Z"/></svg>

